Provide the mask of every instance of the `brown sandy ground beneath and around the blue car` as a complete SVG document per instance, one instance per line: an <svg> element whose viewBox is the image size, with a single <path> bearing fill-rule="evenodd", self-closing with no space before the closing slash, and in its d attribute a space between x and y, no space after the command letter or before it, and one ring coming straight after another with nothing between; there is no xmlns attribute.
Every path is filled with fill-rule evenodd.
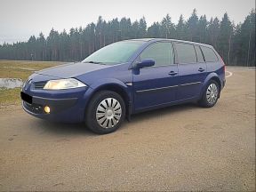
<svg viewBox="0 0 256 192"><path fill-rule="evenodd" d="M20 106L0 110L0 190L255 190L255 70L233 76L214 108L132 116L95 135Z"/></svg>

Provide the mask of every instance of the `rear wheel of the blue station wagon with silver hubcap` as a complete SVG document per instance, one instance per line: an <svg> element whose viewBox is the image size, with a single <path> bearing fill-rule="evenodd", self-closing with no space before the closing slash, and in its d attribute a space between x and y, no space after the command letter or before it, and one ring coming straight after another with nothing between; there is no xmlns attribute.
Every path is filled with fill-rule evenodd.
<svg viewBox="0 0 256 192"><path fill-rule="evenodd" d="M212 108L217 103L219 97L220 85L216 81L210 80L206 85L201 100L199 100L199 105L204 108Z"/></svg>

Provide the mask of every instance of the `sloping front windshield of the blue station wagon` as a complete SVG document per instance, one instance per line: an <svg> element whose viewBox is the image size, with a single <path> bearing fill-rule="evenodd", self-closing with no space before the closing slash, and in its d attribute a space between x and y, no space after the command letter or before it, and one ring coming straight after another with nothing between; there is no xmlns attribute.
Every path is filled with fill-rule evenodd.
<svg viewBox="0 0 256 192"><path fill-rule="evenodd" d="M115 65L117 63L127 62L132 54L138 50L143 41L123 41L115 44L109 44L93 52L82 62L90 62L96 64Z"/></svg>

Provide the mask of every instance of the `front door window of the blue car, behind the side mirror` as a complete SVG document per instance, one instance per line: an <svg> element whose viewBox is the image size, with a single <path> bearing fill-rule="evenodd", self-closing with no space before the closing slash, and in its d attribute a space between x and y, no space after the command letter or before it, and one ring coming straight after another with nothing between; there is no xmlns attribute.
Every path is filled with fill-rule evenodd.
<svg viewBox="0 0 256 192"><path fill-rule="evenodd" d="M172 44L161 42L150 44L141 54L140 60L155 60L155 66L166 66L173 64Z"/></svg>

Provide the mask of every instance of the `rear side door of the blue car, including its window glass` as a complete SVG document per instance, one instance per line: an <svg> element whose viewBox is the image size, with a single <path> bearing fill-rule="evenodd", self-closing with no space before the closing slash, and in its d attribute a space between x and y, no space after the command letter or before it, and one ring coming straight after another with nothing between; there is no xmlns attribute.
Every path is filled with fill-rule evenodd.
<svg viewBox="0 0 256 192"><path fill-rule="evenodd" d="M200 47L194 44L175 43L175 49L180 77L177 100L199 97L207 75L203 53Z"/></svg>

